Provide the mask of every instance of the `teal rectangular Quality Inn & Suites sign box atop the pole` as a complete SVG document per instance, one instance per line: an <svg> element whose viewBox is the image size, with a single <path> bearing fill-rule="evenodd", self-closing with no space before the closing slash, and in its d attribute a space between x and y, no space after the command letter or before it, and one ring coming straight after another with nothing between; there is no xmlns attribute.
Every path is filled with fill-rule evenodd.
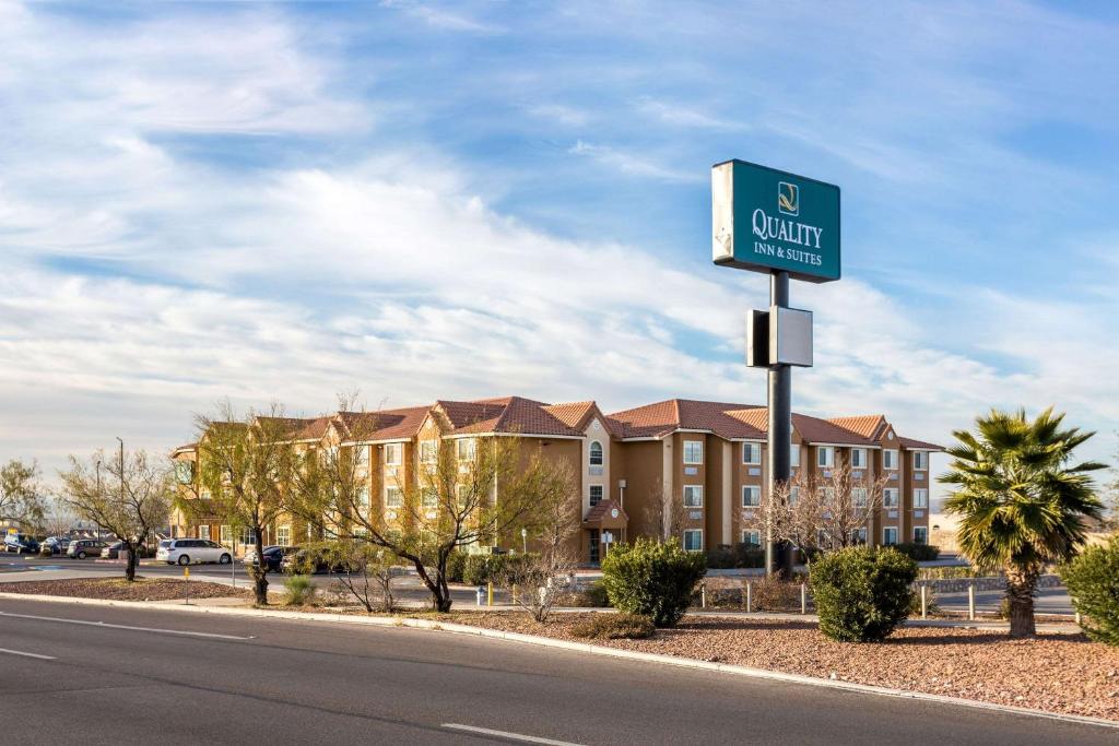
<svg viewBox="0 0 1119 746"><path fill-rule="evenodd" d="M715 264L839 278L839 187L739 160L711 178Z"/></svg>

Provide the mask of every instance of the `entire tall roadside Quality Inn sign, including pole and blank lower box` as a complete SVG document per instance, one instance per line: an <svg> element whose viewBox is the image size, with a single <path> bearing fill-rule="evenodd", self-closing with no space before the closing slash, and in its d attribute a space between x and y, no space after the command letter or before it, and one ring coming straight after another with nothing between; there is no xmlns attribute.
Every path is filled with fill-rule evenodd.
<svg viewBox="0 0 1119 746"><path fill-rule="evenodd" d="M770 276L770 308L746 319L746 365L769 371L767 499L791 476L792 367L812 365L812 314L789 308L789 278L839 278L839 187L732 160L712 167L712 258ZM774 570L767 511L765 572ZM782 556L792 572L792 553Z"/></svg>

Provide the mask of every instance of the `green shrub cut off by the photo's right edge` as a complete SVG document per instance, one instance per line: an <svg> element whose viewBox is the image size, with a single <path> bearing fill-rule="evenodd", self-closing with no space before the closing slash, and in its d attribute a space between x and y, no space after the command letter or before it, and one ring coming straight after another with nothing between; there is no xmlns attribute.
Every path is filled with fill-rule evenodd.
<svg viewBox="0 0 1119 746"><path fill-rule="evenodd" d="M1059 569L1089 638L1119 645L1119 535Z"/></svg>

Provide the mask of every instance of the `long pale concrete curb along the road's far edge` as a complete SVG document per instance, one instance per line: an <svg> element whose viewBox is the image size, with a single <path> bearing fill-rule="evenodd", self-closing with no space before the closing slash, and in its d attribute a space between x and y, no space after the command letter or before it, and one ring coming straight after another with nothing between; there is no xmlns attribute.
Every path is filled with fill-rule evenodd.
<svg viewBox="0 0 1119 746"><path fill-rule="evenodd" d="M236 608L228 606L197 606L187 604L175 604L170 602L143 602L143 601L106 601L102 598L72 598L65 596L43 596L23 593L0 593L2 601L39 601L47 603L76 604L82 606L113 606L128 608L147 608L152 611L188 612L196 614L216 614L222 616L242 616L255 618L282 618L297 622L329 622L341 624L356 624L364 626L380 627L410 627L415 630L430 630L439 632L450 632L453 634L467 634L478 638L490 638L495 640L507 640L524 644L537 645L542 648L556 648L560 650L573 650L592 655L605 658L620 658L624 660L642 661L646 663L660 663L662 665L675 665L677 668L698 669L703 671L718 671L752 679L768 679L771 681L784 681L787 683L799 683L811 687L824 687L828 689L843 689L864 695L876 695L880 697L896 697L901 699L913 699L918 701L938 702L941 705L956 705L958 707L970 707L972 709L990 710L996 712L1007 712L1027 717L1038 717L1049 720L1061 720L1064 723L1076 723L1103 728L1119 730L1119 720L1107 720L1083 715L1062 715L1060 712L1046 712L1027 707L1014 707L1010 705L996 705L961 697L947 697L944 695L930 695L921 691L909 691L905 689L892 689L888 687L875 687L866 683L855 683L852 681L835 681L831 679L817 679L815 677L800 676L797 673L782 673L780 671L768 671L765 669L753 669L745 665L732 665L728 663L711 663L694 658L678 658L675 655L661 655L658 653L642 653L632 650L620 650L594 645L590 643L568 642L566 640L555 640L533 634L521 634L519 632L502 632L500 630L487 630L485 627L471 626L468 624L455 624L451 622L433 622L430 620L414 620L404 617L387 616L349 616L345 614L326 614L321 612L286 612L281 610L261 608Z"/></svg>

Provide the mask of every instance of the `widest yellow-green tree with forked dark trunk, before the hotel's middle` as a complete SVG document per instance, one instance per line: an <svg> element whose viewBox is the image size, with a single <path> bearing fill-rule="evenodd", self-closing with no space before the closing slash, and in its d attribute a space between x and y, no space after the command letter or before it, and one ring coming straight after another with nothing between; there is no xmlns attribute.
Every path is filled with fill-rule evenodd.
<svg viewBox="0 0 1119 746"><path fill-rule="evenodd" d="M397 476L395 518L372 510L367 446L376 413L340 415L346 442L305 459L294 473L292 510L328 536L365 540L412 564L435 611L451 610L451 553L496 545L515 528L534 530L543 500L562 479L543 453L525 453L517 437L477 437L463 445L427 441L415 480Z"/></svg>

